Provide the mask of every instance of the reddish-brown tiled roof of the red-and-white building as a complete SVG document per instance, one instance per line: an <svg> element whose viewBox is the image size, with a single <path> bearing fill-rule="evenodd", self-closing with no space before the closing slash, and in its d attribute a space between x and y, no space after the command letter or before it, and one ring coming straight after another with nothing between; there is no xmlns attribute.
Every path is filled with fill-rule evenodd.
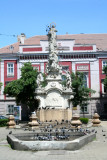
<svg viewBox="0 0 107 160"><path fill-rule="evenodd" d="M107 33L104 34L65 34L57 35L57 39L75 39L75 44L96 44L97 50L107 51ZM40 45L40 40L47 40L46 35L34 36L25 40L24 45ZM10 46L13 46L13 50ZM19 51L19 42L10 44L0 49L0 53L17 53Z"/></svg>

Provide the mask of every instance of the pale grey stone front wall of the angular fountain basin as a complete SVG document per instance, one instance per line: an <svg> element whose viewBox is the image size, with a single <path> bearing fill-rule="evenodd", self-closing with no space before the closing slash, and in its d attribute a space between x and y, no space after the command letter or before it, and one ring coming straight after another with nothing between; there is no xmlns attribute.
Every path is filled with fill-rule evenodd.
<svg viewBox="0 0 107 160"><path fill-rule="evenodd" d="M81 136L75 140L69 141L39 141L39 140L20 140L19 135L8 135L7 141L11 145L12 149L15 150L33 150L33 151L42 151L42 150L78 150L87 143L93 141L96 138L95 133ZM24 136L21 135L20 136Z"/></svg>

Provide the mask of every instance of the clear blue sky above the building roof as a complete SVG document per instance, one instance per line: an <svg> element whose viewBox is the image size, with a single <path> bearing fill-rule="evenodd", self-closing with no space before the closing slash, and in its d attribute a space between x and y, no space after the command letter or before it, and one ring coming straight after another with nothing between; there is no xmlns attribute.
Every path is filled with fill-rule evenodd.
<svg viewBox="0 0 107 160"><path fill-rule="evenodd" d="M0 0L0 48L20 33L45 35L51 22L57 34L107 33L107 0Z"/></svg>

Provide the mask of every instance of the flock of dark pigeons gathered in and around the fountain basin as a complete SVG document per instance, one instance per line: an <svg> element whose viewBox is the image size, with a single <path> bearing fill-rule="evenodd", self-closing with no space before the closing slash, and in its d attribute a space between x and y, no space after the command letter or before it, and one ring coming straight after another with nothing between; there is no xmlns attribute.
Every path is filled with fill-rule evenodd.
<svg viewBox="0 0 107 160"><path fill-rule="evenodd" d="M52 121L51 121L52 122ZM87 134L91 134L91 133L97 133L97 130L95 129L89 129L89 128L79 128L76 126L75 128L71 128L70 124L68 123L68 121L63 121L62 122L58 122L56 120L55 124L46 122L47 125L44 125L42 122L39 122L39 126L40 126L40 132L36 133L35 130L33 130L34 132L34 136L33 139L34 140L56 140L56 141L60 141L60 140L71 140L72 138L74 138L76 136L80 137L83 135L87 135ZM28 130L28 128L25 128L24 131ZM106 138L106 131L102 130L102 134L103 136L105 136ZM9 132L9 134L12 134L12 131ZM75 139L75 138L74 138Z"/></svg>

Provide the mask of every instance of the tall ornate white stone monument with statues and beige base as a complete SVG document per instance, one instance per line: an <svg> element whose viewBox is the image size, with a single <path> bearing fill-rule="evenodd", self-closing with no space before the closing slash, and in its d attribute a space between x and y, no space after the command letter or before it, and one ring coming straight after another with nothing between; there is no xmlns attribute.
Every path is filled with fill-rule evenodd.
<svg viewBox="0 0 107 160"><path fill-rule="evenodd" d="M66 74L67 85L62 85L62 67L59 65L55 25L50 25L48 31L49 59L46 65L47 85L41 87L41 77L37 77L38 88L36 99L39 100L39 111L37 112L40 121L70 120L72 111L70 99L72 98L70 72Z"/></svg>

